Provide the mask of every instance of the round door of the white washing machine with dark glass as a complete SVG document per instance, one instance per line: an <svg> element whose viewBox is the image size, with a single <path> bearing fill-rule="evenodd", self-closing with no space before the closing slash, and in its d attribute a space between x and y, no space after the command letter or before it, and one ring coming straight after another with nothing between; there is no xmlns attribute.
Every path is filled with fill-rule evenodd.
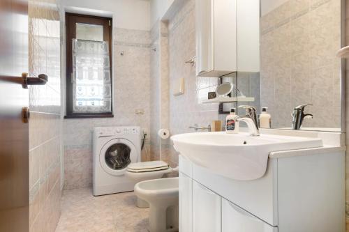
<svg viewBox="0 0 349 232"><path fill-rule="evenodd" d="M99 153L101 167L113 176L123 175L131 162L138 162L138 150L127 139L108 141Z"/></svg>

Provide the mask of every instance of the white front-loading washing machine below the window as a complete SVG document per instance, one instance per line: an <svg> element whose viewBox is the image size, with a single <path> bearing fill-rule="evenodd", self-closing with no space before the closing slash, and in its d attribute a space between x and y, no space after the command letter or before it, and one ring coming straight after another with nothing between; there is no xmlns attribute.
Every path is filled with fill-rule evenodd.
<svg viewBox="0 0 349 232"><path fill-rule="evenodd" d="M125 173L140 162L140 127L94 127L94 196L133 191L135 180Z"/></svg>

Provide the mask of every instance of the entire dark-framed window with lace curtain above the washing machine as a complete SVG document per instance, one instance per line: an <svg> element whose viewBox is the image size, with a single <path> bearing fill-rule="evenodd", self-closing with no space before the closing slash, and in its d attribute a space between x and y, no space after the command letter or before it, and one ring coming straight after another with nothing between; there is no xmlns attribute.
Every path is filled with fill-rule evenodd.
<svg viewBox="0 0 349 232"><path fill-rule="evenodd" d="M66 13L66 118L112 116L112 19Z"/></svg>

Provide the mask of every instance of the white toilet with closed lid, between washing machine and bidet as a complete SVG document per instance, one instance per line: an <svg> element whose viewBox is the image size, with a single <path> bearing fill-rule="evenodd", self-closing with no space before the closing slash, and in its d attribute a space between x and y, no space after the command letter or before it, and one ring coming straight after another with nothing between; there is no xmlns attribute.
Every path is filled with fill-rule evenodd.
<svg viewBox="0 0 349 232"><path fill-rule="evenodd" d="M159 161L149 161L149 162L138 162L128 165L126 175L128 178L135 180L135 183L144 180L153 180L163 177L167 173L171 173L173 169L168 165L168 163ZM137 198L138 208L148 208L149 203Z"/></svg>

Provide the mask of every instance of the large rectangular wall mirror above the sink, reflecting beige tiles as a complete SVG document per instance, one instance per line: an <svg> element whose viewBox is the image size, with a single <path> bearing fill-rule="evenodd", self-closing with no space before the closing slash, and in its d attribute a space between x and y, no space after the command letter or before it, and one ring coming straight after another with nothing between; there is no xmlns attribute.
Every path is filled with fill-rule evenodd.
<svg viewBox="0 0 349 232"><path fill-rule="evenodd" d="M237 1L237 88L254 98L237 104L268 107L278 129L309 105L301 130L341 131L341 22L341 0Z"/></svg>

